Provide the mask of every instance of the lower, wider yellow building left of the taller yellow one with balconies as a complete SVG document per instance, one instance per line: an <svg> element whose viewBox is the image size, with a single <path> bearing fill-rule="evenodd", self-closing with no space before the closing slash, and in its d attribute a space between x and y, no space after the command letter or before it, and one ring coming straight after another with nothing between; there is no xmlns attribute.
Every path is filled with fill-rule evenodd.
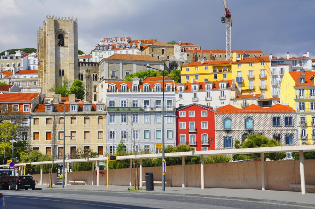
<svg viewBox="0 0 315 209"><path fill-rule="evenodd" d="M181 67L182 83L231 80L231 61L198 61Z"/></svg>

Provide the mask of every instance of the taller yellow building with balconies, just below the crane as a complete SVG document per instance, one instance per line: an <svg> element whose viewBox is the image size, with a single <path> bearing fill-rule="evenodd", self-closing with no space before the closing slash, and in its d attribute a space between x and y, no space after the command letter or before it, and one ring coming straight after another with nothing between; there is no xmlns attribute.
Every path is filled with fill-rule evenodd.
<svg viewBox="0 0 315 209"><path fill-rule="evenodd" d="M243 57L242 54L232 54L232 78L235 87L242 94L259 94L271 98L271 71L269 56Z"/></svg>

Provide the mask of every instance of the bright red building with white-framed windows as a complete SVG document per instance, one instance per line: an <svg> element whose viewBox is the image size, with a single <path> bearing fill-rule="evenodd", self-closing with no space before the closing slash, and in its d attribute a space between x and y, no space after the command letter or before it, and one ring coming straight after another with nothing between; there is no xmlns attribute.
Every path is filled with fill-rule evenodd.
<svg viewBox="0 0 315 209"><path fill-rule="evenodd" d="M176 108L176 145L196 151L215 150L215 113L212 107L191 104Z"/></svg>

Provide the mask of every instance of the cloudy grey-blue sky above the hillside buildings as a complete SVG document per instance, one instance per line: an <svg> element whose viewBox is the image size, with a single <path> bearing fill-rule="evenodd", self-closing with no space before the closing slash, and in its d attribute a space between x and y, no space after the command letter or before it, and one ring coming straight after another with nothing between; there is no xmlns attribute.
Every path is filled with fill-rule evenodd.
<svg viewBox="0 0 315 209"><path fill-rule="evenodd" d="M232 13L232 50L266 55L315 56L315 1L227 0ZM46 15L78 19L78 48L95 48L102 37L130 36L225 49L221 0L0 0L0 52L37 48Z"/></svg>

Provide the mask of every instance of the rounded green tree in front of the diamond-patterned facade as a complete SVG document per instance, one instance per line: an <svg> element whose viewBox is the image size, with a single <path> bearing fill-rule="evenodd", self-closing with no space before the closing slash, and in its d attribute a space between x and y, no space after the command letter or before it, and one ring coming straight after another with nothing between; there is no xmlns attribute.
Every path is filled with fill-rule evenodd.
<svg viewBox="0 0 315 209"><path fill-rule="evenodd" d="M275 147L282 146L274 139L269 139L261 134L251 134L249 137L241 144L239 140L235 140L234 147L235 149L240 148L256 148L256 147ZM233 155L233 160L245 160L251 158L260 158L260 153L256 154L245 154L245 155ZM266 153L265 159L269 158L270 160L282 160L285 158L285 153Z"/></svg>

